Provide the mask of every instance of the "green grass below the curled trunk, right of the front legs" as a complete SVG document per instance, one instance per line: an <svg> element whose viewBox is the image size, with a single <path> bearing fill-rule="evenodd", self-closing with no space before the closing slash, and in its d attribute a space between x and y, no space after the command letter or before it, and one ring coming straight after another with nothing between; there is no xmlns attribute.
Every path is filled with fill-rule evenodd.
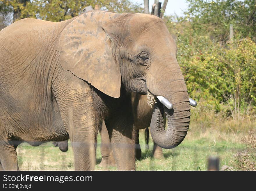
<svg viewBox="0 0 256 191"><path fill-rule="evenodd" d="M163 149L164 159L152 158L150 151L142 150L143 159L136 161L137 170L207 170L209 156L218 156L220 166L232 164L232 156L243 150L244 145L238 142L214 140L211 137L188 138L174 149ZM143 147L142 147L143 149Z"/></svg>

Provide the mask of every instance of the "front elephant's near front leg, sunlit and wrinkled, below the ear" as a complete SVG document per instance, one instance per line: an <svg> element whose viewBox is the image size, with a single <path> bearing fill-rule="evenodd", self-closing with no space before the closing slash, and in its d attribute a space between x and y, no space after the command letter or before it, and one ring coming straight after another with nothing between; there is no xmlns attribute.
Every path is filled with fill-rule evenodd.
<svg viewBox="0 0 256 191"><path fill-rule="evenodd" d="M75 170L94 170L97 134L102 117L95 110L89 86L76 76L67 75L60 75L53 84L53 90L73 148L74 167Z"/></svg>

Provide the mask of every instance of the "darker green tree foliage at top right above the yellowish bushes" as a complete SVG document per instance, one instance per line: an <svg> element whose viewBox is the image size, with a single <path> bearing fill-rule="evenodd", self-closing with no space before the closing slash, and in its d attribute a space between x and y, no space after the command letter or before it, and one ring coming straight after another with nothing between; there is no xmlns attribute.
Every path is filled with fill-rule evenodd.
<svg viewBox="0 0 256 191"><path fill-rule="evenodd" d="M200 34L204 31L215 41L229 39L229 25L234 25L238 38L256 36L255 0L187 0L186 17L192 28ZM256 39L254 39L256 41Z"/></svg>

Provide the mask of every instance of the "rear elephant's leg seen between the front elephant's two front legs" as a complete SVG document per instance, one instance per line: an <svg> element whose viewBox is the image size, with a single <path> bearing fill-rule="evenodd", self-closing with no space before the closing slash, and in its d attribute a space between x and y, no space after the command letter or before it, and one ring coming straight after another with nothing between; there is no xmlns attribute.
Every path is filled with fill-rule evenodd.
<svg viewBox="0 0 256 191"><path fill-rule="evenodd" d="M104 121L102 123L102 128L100 128L99 132L101 136L100 151L102 155L102 160L99 166L103 167L104 169L107 169L107 167L109 166L116 166L113 151L111 149L109 132L106 128Z"/></svg>

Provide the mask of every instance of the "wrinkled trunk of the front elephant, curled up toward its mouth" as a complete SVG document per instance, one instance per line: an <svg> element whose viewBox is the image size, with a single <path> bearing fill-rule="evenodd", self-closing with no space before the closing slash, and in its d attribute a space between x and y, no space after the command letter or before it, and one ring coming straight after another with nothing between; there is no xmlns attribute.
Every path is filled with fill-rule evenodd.
<svg viewBox="0 0 256 191"><path fill-rule="evenodd" d="M157 74L150 71L148 89L155 96L163 96L170 103L172 108L168 109L156 99L153 115L150 124L152 139L156 144L165 149L171 149L179 145L186 136L190 122L190 103L186 84L179 65L173 62L163 71L161 76L151 80ZM155 81L155 82L154 82ZM154 84L154 85L153 85ZM164 87L164 88L163 88ZM164 127L164 113L166 114L168 128Z"/></svg>

